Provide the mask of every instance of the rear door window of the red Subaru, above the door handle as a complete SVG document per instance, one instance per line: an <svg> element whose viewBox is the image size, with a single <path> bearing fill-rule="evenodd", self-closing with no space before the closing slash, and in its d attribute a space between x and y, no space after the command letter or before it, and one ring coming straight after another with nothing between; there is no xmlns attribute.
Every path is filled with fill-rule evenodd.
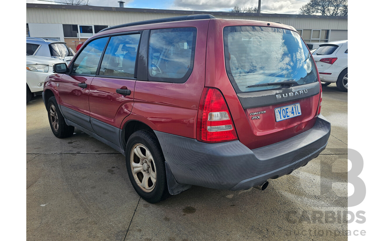
<svg viewBox="0 0 374 241"><path fill-rule="evenodd" d="M134 78L140 34L110 38L99 75Z"/></svg>

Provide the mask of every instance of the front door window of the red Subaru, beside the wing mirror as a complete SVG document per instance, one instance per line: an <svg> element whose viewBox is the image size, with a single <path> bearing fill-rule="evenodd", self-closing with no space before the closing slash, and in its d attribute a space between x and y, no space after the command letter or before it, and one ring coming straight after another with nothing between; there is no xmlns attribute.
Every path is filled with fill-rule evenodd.
<svg viewBox="0 0 374 241"><path fill-rule="evenodd" d="M91 41L79 53L74 61L72 74L96 75L102 51L108 37L99 38Z"/></svg>

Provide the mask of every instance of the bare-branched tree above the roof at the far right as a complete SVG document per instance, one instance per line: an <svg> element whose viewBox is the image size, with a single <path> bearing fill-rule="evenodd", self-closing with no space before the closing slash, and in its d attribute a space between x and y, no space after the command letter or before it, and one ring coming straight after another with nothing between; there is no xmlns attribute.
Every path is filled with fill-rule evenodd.
<svg viewBox="0 0 374 241"><path fill-rule="evenodd" d="M303 15L348 16L347 0L311 0L299 11Z"/></svg>

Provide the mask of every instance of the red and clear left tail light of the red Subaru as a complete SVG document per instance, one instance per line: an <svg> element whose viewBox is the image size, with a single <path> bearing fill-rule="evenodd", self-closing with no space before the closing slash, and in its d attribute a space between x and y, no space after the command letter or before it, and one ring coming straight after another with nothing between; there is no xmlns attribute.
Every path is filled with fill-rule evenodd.
<svg viewBox="0 0 374 241"><path fill-rule="evenodd" d="M221 92L204 88L196 121L196 139L203 142L237 140L229 108Z"/></svg>

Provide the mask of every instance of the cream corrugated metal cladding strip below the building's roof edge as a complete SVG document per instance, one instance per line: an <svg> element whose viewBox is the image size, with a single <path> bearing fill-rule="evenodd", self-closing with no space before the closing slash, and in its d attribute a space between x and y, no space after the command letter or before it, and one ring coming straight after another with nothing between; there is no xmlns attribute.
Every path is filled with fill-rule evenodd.
<svg viewBox="0 0 374 241"><path fill-rule="evenodd" d="M230 13L230 15L232 14L233 13ZM26 8L27 23L118 25L126 24L129 22L137 22L156 18L168 18L182 15L186 14L116 12L77 9L46 9L30 7ZM282 24L293 26L296 29L348 29L347 19L225 16L224 13L222 15L215 15L215 17L281 22Z"/></svg>

